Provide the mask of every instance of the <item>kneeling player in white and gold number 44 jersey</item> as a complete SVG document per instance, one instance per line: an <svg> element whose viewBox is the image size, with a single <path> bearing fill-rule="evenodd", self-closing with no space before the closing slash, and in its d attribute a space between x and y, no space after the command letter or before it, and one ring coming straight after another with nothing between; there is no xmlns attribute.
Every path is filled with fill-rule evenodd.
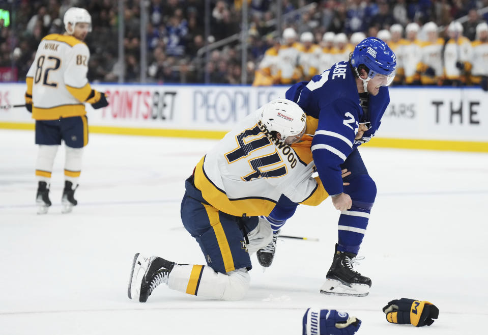
<svg viewBox="0 0 488 335"><path fill-rule="evenodd" d="M290 145L306 131L294 102L276 99L245 118L196 165L181 203L184 227L207 265L134 256L128 296L146 302L161 283L200 297L239 300L249 288L250 254L271 240L268 215L282 197L315 206L328 197L314 163ZM345 171L343 171L345 172Z"/></svg>

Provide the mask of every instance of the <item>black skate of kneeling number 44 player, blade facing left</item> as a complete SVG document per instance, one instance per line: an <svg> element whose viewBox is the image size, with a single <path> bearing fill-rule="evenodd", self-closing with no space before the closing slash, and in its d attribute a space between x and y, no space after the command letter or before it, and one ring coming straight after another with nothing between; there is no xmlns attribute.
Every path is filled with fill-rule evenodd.
<svg viewBox="0 0 488 335"><path fill-rule="evenodd" d="M135 254L127 290L129 299L146 302L156 286L168 283L169 273L174 266L175 262L166 261L161 257Z"/></svg>

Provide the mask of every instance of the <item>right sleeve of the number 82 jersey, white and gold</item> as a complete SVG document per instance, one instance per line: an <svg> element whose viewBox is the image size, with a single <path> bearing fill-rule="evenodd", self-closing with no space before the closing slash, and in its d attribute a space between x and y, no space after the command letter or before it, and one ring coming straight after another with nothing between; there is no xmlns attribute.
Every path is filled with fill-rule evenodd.
<svg viewBox="0 0 488 335"><path fill-rule="evenodd" d="M67 55L64 81L66 89L79 101L85 102L92 95L92 88L87 79L90 50L84 43L73 46Z"/></svg>

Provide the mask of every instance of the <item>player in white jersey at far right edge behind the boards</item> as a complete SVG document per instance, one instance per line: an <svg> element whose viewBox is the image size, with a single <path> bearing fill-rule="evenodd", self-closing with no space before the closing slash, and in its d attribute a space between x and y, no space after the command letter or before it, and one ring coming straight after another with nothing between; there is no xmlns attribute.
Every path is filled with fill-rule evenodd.
<svg viewBox="0 0 488 335"><path fill-rule="evenodd" d="M476 40L471 43L471 83L480 85L488 91L488 24L481 22L476 26Z"/></svg>

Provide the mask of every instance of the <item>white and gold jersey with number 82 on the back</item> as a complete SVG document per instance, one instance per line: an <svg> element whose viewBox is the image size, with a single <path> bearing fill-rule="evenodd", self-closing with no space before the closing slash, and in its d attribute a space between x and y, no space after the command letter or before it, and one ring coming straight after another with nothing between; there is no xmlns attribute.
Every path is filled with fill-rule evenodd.
<svg viewBox="0 0 488 335"><path fill-rule="evenodd" d="M88 46L73 36L51 34L41 40L26 76L34 119L86 114L83 102L92 91L87 79L89 60Z"/></svg>

